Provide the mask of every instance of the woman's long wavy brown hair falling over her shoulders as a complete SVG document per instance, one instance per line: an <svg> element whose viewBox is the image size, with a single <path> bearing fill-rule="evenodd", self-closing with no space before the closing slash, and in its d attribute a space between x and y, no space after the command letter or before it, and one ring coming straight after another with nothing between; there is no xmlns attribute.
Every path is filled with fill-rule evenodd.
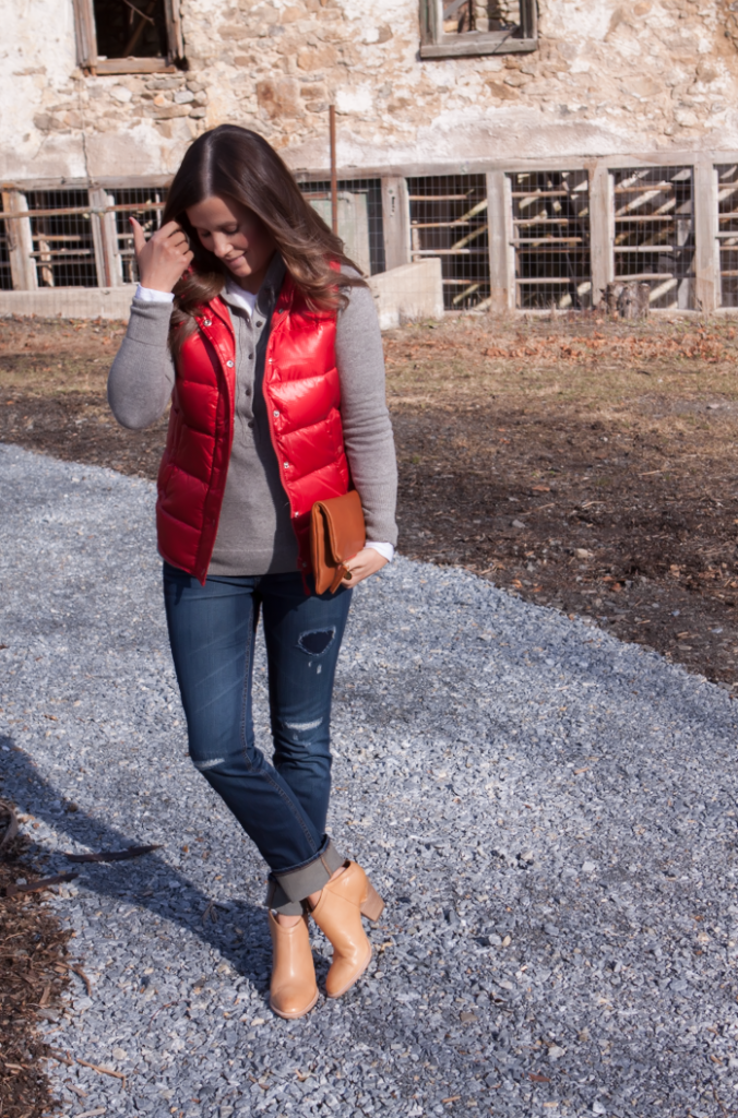
<svg viewBox="0 0 738 1118"><path fill-rule="evenodd" d="M274 148L249 129L220 124L187 151L162 216L162 224L179 221L195 254L190 271L174 287L170 341L176 351L195 329L195 310L223 290L228 275L187 219L191 206L212 197L230 198L261 218L311 310L337 311L348 301L342 288L366 286L360 276L331 267L334 262L359 271L346 256L343 241L305 201Z"/></svg>

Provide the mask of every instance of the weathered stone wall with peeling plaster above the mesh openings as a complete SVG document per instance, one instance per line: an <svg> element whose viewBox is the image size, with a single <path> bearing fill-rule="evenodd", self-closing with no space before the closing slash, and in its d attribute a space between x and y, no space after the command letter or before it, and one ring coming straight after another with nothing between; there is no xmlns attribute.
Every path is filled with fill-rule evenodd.
<svg viewBox="0 0 738 1118"><path fill-rule="evenodd" d="M76 68L72 0L6 0L0 177L173 171L224 121L296 169L738 150L731 0L540 0L532 54L419 60L418 0L181 0L187 73Z"/></svg>

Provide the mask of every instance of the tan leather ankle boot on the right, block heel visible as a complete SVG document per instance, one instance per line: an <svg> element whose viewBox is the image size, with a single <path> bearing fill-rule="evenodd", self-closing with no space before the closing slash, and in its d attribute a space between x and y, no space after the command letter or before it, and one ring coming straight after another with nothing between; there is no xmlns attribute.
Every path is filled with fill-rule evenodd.
<svg viewBox="0 0 738 1118"><path fill-rule="evenodd" d="M362 915L378 920L385 902L356 862L323 885L312 918L333 945L333 963L325 979L329 997L340 997L371 961L371 944L361 927Z"/></svg>

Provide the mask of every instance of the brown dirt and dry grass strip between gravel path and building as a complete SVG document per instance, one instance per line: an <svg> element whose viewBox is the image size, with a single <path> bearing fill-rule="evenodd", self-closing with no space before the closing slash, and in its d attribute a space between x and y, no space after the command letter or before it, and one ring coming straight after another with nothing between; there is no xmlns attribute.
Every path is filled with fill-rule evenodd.
<svg viewBox="0 0 738 1118"><path fill-rule="evenodd" d="M0 323L0 440L155 477L107 410L120 323ZM386 335L400 551L592 618L738 694L729 320L450 318Z"/></svg>

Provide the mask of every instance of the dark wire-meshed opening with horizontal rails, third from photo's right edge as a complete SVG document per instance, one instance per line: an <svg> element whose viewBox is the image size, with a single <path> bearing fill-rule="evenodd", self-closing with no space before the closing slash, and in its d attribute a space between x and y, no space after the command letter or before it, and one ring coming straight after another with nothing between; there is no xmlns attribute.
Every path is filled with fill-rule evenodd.
<svg viewBox="0 0 738 1118"><path fill-rule="evenodd" d="M510 176L515 306L592 305L589 177L586 171Z"/></svg>

